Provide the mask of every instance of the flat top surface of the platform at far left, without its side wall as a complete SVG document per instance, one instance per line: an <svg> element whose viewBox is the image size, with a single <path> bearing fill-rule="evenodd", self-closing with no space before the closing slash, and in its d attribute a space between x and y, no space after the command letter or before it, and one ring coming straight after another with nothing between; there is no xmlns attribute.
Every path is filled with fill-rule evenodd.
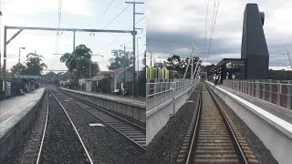
<svg viewBox="0 0 292 164"><path fill-rule="evenodd" d="M34 108L44 91L45 87L41 87L30 93L0 101L0 138Z"/></svg>

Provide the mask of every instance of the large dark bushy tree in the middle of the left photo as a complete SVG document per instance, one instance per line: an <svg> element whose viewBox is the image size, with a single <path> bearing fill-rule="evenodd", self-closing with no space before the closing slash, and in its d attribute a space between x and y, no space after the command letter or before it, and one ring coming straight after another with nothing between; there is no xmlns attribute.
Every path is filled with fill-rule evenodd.
<svg viewBox="0 0 292 164"><path fill-rule="evenodd" d="M73 53L66 53L60 57L60 61L66 64L69 72L73 72L74 81L79 77L89 77L91 65L91 77L99 72L99 64L91 61L92 51L85 45L76 46Z"/></svg>

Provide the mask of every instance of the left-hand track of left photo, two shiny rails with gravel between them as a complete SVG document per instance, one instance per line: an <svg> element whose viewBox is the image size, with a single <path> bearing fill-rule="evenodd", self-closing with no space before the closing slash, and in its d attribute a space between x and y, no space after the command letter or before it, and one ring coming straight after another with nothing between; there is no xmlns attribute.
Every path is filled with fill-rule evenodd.
<svg viewBox="0 0 292 164"><path fill-rule="evenodd" d="M47 116L36 163L93 163L75 125L47 88Z"/></svg>

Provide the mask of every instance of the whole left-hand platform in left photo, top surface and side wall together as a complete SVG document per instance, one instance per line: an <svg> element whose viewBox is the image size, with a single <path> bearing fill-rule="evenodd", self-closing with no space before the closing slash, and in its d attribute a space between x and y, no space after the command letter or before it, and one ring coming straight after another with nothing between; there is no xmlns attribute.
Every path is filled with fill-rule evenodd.
<svg viewBox="0 0 292 164"><path fill-rule="evenodd" d="M25 95L0 101L0 163L30 127L44 93L45 87L41 87Z"/></svg>

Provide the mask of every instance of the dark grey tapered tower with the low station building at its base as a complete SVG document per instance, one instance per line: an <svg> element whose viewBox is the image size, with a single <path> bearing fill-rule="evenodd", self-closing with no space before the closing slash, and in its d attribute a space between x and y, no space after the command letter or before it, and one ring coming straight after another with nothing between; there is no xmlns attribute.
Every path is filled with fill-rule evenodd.
<svg viewBox="0 0 292 164"><path fill-rule="evenodd" d="M265 14L256 4L245 6L241 58L224 58L212 68L214 75L231 79L268 78L269 53L264 33Z"/></svg>

